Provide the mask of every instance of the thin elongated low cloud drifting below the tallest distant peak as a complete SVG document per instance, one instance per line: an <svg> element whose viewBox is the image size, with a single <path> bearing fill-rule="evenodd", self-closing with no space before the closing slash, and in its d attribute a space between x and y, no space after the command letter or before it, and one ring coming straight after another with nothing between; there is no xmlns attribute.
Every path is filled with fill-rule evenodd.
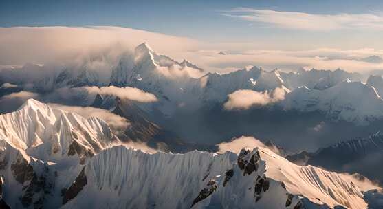
<svg viewBox="0 0 383 209"><path fill-rule="evenodd" d="M133 100L136 102L156 102L157 97L154 94L147 93L133 87L80 87L86 89L90 94L102 94L117 96L122 99Z"/></svg>

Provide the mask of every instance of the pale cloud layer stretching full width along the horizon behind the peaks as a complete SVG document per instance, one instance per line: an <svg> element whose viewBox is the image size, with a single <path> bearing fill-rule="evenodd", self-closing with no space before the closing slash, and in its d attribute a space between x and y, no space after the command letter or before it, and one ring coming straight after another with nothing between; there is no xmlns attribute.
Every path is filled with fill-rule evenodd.
<svg viewBox="0 0 383 209"><path fill-rule="evenodd" d="M25 39L25 36L28 36L28 40ZM287 71L300 67L306 69L341 68L350 72L383 69L383 63L364 61L364 58L373 55L383 57L383 50L358 49L358 47L383 47L383 45L374 39L366 39L365 36L352 37L353 39L348 41L348 37L342 37L342 40L339 41L328 40L326 37L318 38L317 41L276 37L272 41L257 39L247 42L234 40L232 42L204 43L195 39L118 27L0 28L0 68L25 63L39 63L47 66L47 63L53 62L55 66L63 64L74 69L87 67L108 78L111 68L117 65L122 53L131 53L135 46L147 42L156 52L166 54L179 61L186 58L207 72L231 72L248 65ZM342 42L344 40L347 45ZM286 47L290 44L291 47ZM338 49L338 47L343 48L344 46L347 49L355 48L355 50ZM218 54L221 51L226 52L226 55ZM52 66L46 68L53 69ZM39 70L39 72L48 73L47 70ZM176 76L188 73L193 77L200 76L199 72L180 71L179 69L162 69L162 73ZM39 77L39 75L30 74L24 77L29 78L30 76ZM22 79L28 80L28 78ZM4 82L10 82L10 80Z"/></svg>

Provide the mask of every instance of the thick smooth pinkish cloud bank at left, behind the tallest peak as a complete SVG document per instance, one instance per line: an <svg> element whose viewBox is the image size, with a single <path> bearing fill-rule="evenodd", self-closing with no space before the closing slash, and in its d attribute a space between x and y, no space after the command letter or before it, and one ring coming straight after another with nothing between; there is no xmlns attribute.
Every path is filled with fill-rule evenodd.
<svg viewBox="0 0 383 209"><path fill-rule="evenodd" d="M0 65L70 61L110 47L133 49L143 42L164 54L198 46L194 39L111 26L0 28Z"/></svg>

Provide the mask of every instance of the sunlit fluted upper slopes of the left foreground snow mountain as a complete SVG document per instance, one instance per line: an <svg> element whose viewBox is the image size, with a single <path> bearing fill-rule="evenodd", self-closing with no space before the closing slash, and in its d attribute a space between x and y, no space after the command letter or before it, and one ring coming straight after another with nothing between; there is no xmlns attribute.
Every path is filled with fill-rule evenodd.
<svg viewBox="0 0 383 209"><path fill-rule="evenodd" d="M30 99L17 111L0 115L0 142L45 162L76 156L85 162L118 142L106 122L53 109Z"/></svg>

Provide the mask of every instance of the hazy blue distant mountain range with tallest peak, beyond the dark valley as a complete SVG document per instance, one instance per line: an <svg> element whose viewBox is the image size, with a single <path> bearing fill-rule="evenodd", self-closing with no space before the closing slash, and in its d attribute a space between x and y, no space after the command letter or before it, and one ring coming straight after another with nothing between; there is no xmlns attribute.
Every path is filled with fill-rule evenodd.
<svg viewBox="0 0 383 209"><path fill-rule="evenodd" d="M382 124L379 76L361 83L366 79L364 75L342 69L283 72L261 67L218 74L204 72L186 60L178 62L157 54L147 43L138 45L134 52L120 54L116 63L108 63L111 67L100 72L93 62L102 61L96 57L77 65L27 64L21 68L2 69L0 83L5 86L0 91L1 94L32 91L39 94L43 102L88 106L96 95L85 91L70 98L67 96L70 92L63 93L63 89L109 85L136 87L158 99L152 104L136 104L151 122L171 130L185 142L205 145L245 134L274 140L290 149L312 151L334 140L371 135ZM284 100L266 106L255 104L247 111L223 108L228 95L235 91L246 89L264 93L276 88L283 89ZM359 99L361 95L364 98ZM106 109L110 108L109 104ZM293 125L287 127L286 124ZM230 126L234 127L222 128ZM281 134L273 131L276 126L282 129ZM312 131L318 127L328 130ZM340 127L352 131L330 135L333 129ZM296 137L312 141L301 147L285 142Z"/></svg>

